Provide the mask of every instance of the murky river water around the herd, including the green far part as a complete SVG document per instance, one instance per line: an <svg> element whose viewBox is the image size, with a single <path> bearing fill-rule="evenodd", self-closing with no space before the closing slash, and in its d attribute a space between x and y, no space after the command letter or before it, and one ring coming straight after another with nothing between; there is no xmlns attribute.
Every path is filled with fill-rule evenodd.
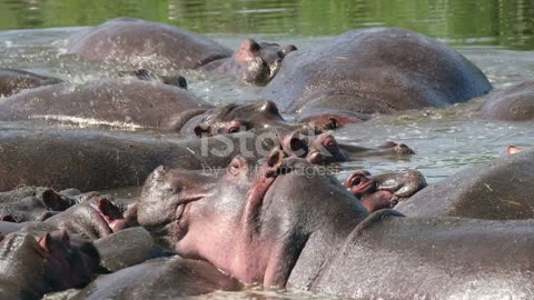
<svg viewBox="0 0 534 300"><path fill-rule="evenodd" d="M58 3L59 7L53 7L49 1L0 2L0 27L8 29L0 31L0 67L24 69L73 82L105 77L116 69L86 63L63 54L58 41L83 29L73 26L96 24L128 14L205 32L230 48L236 48L244 38L254 37L294 43L299 49L306 49L353 28L402 26L455 46L486 73L495 89L534 79L534 52L514 50L534 48L534 10L530 1L473 1L477 3L473 8L465 1L390 1L389 6L385 4L386 1L332 1L334 4L323 8L323 18L317 11L322 11L320 6L324 4L317 3L314 9L307 9L303 4L306 1L264 1L263 4L257 3L263 1L240 1L243 6L239 6L239 1L220 1L216 7L200 6L196 9L194 6L204 1L122 1L126 4L120 9L105 4L106 1L91 1L91 6L85 7L85 14L81 13L85 10L78 7L81 7L81 2L75 2L66 1L63 7ZM149 2L155 4L150 6ZM102 10L99 6L107 6L108 9ZM400 17L395 14L395 10L398 10L396 6L404 9L398 12ZM51 18L53 11L48 9L52 8L66 17ZM58 28L34 29L42 27ZM33 29L13 30L16 28ZM216 104L246 102L258 91L257 88L229 84L225 80L211 81L196 72L184 74L191 92ZM375 146L393 140L406 143L417 152L406 160L372 158L343 163L338 177L345 178L355 169L378 173L416 168L426 176L428 182L436 182L462 169L484 164L503 156L508 144L534 147L533 123L486 121L478 112L484 100L474 99L445 109L378 116L372 121L337 131L335 136L343 142ZM26 124L0 123L0 128L18 126ZM137 189L117 192L135 194ZM296 291L267 293L253 290L215 293L208 298L246 299L261 296L287 299L317 297Z"/></svg>

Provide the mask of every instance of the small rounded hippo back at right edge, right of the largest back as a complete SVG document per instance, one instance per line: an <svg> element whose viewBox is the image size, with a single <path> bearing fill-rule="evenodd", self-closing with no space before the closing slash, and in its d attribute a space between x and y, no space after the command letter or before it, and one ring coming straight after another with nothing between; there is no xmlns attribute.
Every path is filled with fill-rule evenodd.
<svg viewBox="0 0 534 300"><path fill-rule="evenodd" d="M534 81L515 84L494 93L481 110L482 116L491 120L534 120Z"/></svg>

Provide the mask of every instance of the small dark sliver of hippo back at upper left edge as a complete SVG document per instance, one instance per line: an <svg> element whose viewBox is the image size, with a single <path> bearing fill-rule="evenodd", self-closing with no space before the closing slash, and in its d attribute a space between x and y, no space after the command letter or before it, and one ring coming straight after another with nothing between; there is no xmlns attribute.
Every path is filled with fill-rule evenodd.
<svg viewBox="0 0 534 300"><path fill-rule="evenodd" d="M0 68L0 97L8 97L21 90L60 83L62 80L22 70Z"/></svg>

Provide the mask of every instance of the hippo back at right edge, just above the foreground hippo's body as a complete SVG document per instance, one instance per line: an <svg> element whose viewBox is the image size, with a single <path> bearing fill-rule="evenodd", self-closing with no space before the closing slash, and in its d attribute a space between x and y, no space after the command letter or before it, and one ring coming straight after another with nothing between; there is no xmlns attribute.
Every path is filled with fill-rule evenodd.
<svg viewBox="0 0 534 300"><path fill-rule="evenodd" d="M408 217L534 219L534 152L475 167L427 187L395 209Z"/></svg>

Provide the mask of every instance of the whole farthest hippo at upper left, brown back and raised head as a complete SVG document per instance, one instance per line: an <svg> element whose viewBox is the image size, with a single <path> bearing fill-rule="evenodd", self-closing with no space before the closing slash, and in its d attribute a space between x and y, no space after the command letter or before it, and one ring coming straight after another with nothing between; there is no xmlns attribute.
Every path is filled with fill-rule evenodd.
<svg viewBox="0 0 534 300"><path fill-rule="evenodd" d="M192 32L158 22L118 18L67 40L67 53L90 61L158 70L215 70L237 80L265 84L293 44L245 40L237 52Z"/></svg>

